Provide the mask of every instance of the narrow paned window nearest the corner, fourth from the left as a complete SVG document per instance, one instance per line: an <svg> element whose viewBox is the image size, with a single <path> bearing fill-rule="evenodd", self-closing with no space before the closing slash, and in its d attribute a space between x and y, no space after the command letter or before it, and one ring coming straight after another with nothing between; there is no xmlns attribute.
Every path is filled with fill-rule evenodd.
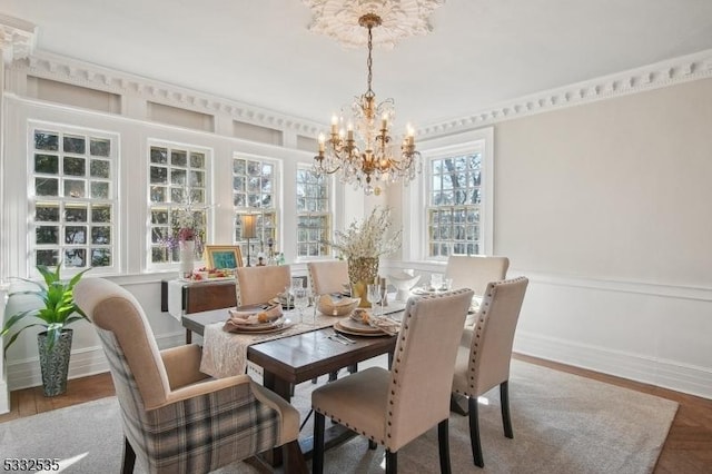
<svg viewBox="0 0 712 474"><path fill-rule="evenodd" d="M297 257L326 257L332 231L328 178L297 169Z"/></svg>

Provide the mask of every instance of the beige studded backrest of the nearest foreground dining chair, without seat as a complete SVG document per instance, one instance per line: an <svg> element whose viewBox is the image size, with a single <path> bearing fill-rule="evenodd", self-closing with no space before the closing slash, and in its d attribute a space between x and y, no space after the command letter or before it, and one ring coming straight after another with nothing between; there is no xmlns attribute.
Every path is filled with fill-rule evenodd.
<svg viewBox="0 0 712 474"><path fill-rule="evenodd" d="M455 356L472 296L465 288L408 299L384 407L390 451L449 416Z"/></svg>

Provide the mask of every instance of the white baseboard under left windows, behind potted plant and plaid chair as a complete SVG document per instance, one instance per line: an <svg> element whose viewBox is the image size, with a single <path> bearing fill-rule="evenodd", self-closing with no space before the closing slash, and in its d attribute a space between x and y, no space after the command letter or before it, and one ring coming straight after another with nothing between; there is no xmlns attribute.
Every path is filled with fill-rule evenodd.
<svg viewBox="0 0 712 474"><path fill-rule="evenodd" d="M172 333L156 336L156 342L159 348L175 347L185 344L185 333ZM8 364L8 388L10 391L17 391L28 387L37 387L42 385L42 373L40 369L40 363L38 357L32 357L24 361L13 362ZM103 348L101 346L85 347L78 350L72 350L69 359L69 375L68 378L79 378L89 375L101 374L109 372L107 358L103 355ZM0 383L0 391L2 385ZM0 392L0 409L2 408L2 393ZM8 401L8 409L10 407ZM0 413L2 413L0 411Z"/></svg>

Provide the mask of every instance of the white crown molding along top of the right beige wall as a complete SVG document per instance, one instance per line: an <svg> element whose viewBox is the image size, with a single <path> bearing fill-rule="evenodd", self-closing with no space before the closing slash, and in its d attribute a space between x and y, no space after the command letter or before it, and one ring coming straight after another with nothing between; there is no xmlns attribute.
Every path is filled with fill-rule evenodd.
<svg viewBox="0 0 712 474"><path fill-rule="evenodd" d="M712 49L627 71L536 92L476 113L421 127L418 137L452 135L504 120L712 77Z"/></svg>

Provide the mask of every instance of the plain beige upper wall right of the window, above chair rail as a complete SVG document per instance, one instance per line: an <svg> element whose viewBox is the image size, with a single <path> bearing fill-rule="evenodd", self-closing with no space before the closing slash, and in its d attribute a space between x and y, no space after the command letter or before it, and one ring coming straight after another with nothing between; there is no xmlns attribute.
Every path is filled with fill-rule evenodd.
<svg viewBox="0 0 712 474"><path fill-rule="evenodd" d="M516 267L712 287L712 79L498 124L495 154Z"/></svg>

